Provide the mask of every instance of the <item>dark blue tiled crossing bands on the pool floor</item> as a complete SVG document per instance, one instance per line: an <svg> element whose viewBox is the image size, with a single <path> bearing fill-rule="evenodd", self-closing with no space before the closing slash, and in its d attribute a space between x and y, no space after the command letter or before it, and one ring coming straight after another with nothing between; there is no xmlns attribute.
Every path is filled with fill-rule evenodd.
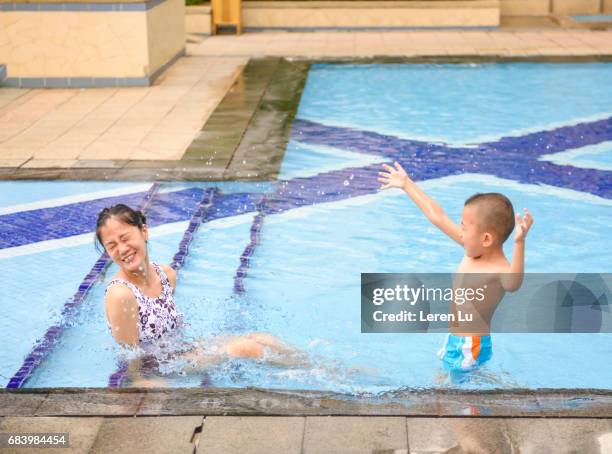
<svg viewBox="0 0 612 454"><path fill-rule="evenodd" d="M398 161L415 181L465 173L493 175L525 184L544 184L612 199L612 171L559 165L541 156L612 140L612 117L503 137L474 147L401 139L376 132L327 126L303 119L292 125L291 139ZM348 167L275 183L275 190L220 193L208 221L249 212L274 214L306 205L333 202L378 191L380 164ZM346 184L346 182L350 184ZM185 221L203 195L188 188L156 195L149 225ZM0 216L0 249L90 233L101 208L136 204L142 193L96 199Z"/></svg>

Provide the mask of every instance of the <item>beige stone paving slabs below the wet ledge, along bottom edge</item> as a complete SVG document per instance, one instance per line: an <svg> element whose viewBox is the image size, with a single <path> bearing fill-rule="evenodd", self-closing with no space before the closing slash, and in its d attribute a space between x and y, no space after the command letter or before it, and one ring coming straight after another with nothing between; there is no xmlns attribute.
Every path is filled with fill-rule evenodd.
<svg viewBox="0 0 612 454"><path fill-rule="evenodd" d="M351 416L5 417L0 432L68 432L57 453L324 454L612 452L610 419ZM48 449L0 448L2 453Z"/></svg>

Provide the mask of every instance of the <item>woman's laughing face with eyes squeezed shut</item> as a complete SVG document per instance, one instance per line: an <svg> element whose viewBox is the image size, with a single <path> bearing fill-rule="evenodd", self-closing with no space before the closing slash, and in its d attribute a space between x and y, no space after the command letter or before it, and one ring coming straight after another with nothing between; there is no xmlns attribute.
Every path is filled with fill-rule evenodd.
<svg viewBox="0 0 612 454"><path fill-rule="evenodd" d="M128 273L146 268L148 238L147 226L142 230L112 216L100 227L100 240L110 258Z"/></svg>

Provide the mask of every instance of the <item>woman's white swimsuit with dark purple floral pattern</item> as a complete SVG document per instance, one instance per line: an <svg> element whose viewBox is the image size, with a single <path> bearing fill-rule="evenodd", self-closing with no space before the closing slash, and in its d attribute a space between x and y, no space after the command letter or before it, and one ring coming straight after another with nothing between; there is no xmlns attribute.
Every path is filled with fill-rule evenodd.
<svg viewBox="0 0 612 454"><path fill-rule="evenodd" d="M121 284L129 287L138 303L138 338L141 343L161 339L163 335L173 331L181 324L182 315L176 308L172 295L172 286L164 270L156 263L152 263L159 276L162 291L156 298L151 298L125 279L113 279L106 287L106 291L114 285Z"/></svg>

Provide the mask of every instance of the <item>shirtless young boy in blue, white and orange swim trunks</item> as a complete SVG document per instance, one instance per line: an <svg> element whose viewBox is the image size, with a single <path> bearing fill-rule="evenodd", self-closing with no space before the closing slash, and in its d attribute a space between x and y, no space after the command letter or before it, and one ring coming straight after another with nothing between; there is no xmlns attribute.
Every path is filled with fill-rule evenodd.
<svg viewBox="0 0 612 454"><path fill-rule="evenodd" d="M525 269L525 237L533 218L525 208L525 217L516 214L514 253L509 262L503 244L515 227L512 203L498 193L475 194L466 200L461 226L449 219L435 200L428 197L410 179L402 166L383 164L378 181L381 189L400 188L416 203L432 224L455 240L465 250L457 269L454 287L484 289L484 299L474 303L476 321L451 323L450 333L439 356L451 371L469 371L491 358L490 326L495 308L504 293L520 288ZM453 305L457 310L457 306Z"/></svg>

